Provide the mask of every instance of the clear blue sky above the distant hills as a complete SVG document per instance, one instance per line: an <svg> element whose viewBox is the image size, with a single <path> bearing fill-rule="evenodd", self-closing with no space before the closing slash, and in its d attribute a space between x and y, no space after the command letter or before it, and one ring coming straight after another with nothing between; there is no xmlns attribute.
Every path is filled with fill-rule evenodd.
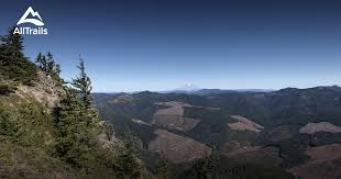
<svg viewBox="0 0 341 179"><path fill-rule="evenodd" d="M67 80L81 55L96 92L341 85L341 1L4 0L0 34L30 5L48 34L25 55L52 52Z"/></svg>

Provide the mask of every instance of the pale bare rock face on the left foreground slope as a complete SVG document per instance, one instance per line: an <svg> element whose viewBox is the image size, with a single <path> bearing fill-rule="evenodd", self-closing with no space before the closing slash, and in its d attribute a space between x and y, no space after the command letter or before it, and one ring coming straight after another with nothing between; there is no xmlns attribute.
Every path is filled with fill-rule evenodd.
<svg viewBox="0 0 341 179"><path fill-rule="evenodd" d="M50 76L38 71L37 81L33 86L20 86L15 93L28 101L29 98L34 98L37 102L51 109L59 102L65 92Z"/></svg>

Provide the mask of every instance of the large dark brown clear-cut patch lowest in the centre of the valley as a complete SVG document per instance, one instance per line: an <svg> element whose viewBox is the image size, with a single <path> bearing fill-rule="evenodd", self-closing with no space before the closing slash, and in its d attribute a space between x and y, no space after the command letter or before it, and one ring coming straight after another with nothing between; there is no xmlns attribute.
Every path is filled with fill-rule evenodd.
<svg viewBox="0 0 341 179"><path fill-rule="evenodd" d="M165 130L156 130L155 141L150 143L148 149L173 163L184 163L202 158L211 154L211 148L189 137L176 135Z"/></svg>

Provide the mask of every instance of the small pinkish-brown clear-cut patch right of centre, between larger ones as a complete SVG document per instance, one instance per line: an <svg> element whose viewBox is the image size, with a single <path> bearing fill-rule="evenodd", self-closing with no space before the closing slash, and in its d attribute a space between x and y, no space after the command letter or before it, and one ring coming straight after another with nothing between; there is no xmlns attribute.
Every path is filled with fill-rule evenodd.
<svg viewBox="0 0 341 179"><path fill-rule="evenodd" d="M235 123L228 123L229 127L238 131L253 131L260 133L264 127L253 121L248 120L241 115L230 115L232 119L237 120Z"/></svg>

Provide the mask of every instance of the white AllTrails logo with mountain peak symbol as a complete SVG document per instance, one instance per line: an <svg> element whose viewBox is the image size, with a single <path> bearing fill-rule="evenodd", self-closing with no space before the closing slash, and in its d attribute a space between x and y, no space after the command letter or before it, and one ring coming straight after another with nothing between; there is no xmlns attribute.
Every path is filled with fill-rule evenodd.
<svg viewBox="0 0 341 179"><path fill-rule="evenodd" d="M29 18L31 15L32 18ZM34 19L33 19L34 18ZM13 34L21 34L21 35L46 35L47 29L44 29L44 22L42 16L37 11L34 11L31 7L26 10L26 12L21 16L18 21L16 25L24 24L24 23L32 23L38 27L19 27L14 29Z"/></svg>

